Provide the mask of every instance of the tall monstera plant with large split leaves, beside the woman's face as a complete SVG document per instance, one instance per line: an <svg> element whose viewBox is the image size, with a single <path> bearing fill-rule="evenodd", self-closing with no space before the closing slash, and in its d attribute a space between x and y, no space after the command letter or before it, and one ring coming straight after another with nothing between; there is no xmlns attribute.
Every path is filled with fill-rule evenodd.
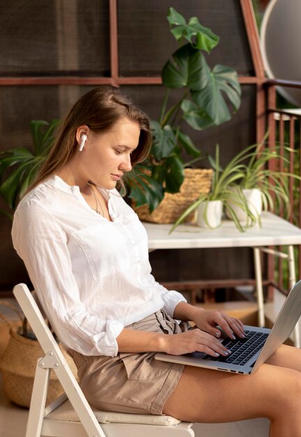
<svg viewBox="0 0 301 437"><path fill-rule="evenodd" d="M180 47L162 69L164 99L160 116L151 121L151 154L128 177L129 197L136 207L147 205L147 213L157 208L164 193L180 191L185 169L200 158L201 152L185 133L183 125L198 131L218 126L231 119L229 106L234 111L240 107L236 71L221 65L211 69L203 54L209 54L217 46L219 37L203 27L196 17L186 22L174 8L169 9L167 20ZM174 93L180 96L176 103L169 105ZM187 163L184 152L192 158ZM198 195L196 193L196 198Z"/></svg>

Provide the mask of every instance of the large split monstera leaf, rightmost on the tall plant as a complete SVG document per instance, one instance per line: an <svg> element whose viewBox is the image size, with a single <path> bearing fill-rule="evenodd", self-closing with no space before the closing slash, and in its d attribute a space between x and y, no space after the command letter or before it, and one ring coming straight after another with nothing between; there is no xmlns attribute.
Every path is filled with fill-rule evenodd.
<svg viewBox="0 0 301 437"><path fill-rule="evenodd" d="M215 66L206 87L192 94L194 101L213 119L216 126L231 119L223 93L229 98L233 109L238 110L241 91L236 71L224 66Z"/></svg>

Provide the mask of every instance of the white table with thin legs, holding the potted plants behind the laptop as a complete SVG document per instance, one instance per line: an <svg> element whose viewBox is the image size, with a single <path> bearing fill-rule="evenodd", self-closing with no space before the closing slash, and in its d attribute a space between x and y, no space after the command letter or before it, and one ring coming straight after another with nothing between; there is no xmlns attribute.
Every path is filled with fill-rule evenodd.
<svg viewBox="0 0 301 437"><path fill-rule="evenodd" d="M206 249L224 247L251 247L254 255L258 323L264 325L263 283L260 251L288 259L290 288L296 282L293 246L301 244L301 230L283 218L265 212L261 226L255 225L240 232L233 221L223 221L214 230L196 225L180 224L171 234L171 225L143 223L148 233L148 248L155 249ZM288 254L269 249L268 246L288 246ZM295 346L300 348L299 330L295 329Z"/></svg>

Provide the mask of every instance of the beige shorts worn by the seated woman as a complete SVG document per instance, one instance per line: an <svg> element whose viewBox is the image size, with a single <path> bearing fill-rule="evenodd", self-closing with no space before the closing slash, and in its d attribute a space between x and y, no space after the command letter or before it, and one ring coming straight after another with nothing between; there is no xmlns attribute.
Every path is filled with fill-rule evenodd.
<svg viewBox="0 0 301 437"><path fill-rule="evenodd" d="M127 326L148 332L176 334L188 329L164 311ZM79 383L94 408L120 413L162 414L184 365L155 360L155 353L118 353L116 357L87 357L68 350L77 365Z"/></svg>

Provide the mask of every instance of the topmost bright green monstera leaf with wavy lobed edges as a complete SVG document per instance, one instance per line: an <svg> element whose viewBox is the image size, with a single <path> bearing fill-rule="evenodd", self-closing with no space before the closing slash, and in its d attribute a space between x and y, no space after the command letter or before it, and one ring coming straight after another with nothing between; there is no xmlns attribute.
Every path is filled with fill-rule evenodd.
<svg viewBox="0 0 301 437"><path fill-rule="evenodd" d="M185 38L193 47L208 53L219 43L219 37L209 27L202 26L197 17L190 18L187 23L183 15L170 8L167 20L174 26L171 33L178 41Z"/></svg>

